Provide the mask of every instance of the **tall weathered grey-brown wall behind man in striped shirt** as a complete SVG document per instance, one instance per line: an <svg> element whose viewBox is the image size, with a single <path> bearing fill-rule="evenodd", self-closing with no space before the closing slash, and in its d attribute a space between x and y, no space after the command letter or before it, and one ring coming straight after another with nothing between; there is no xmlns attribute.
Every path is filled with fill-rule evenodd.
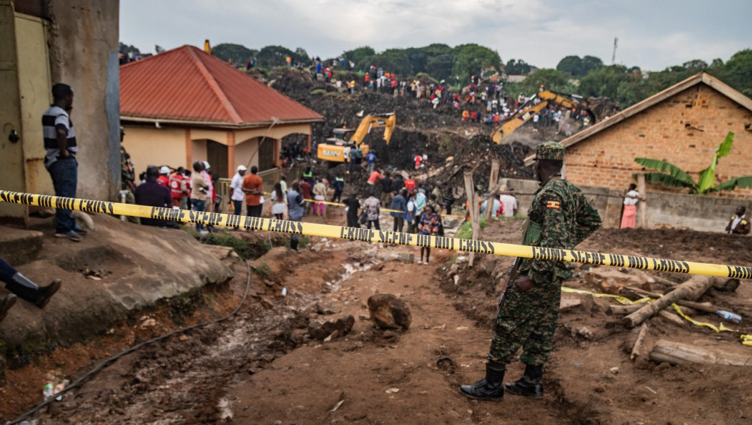
<svg viewBox="0 0 752 425"><path fill-rule="evenodd" d="M120 2L47 0L47 8L52 81L67 83L74 91L71 120L79 145L77 196L117 199L120 189L120 68L117 61Z"/></svg>

